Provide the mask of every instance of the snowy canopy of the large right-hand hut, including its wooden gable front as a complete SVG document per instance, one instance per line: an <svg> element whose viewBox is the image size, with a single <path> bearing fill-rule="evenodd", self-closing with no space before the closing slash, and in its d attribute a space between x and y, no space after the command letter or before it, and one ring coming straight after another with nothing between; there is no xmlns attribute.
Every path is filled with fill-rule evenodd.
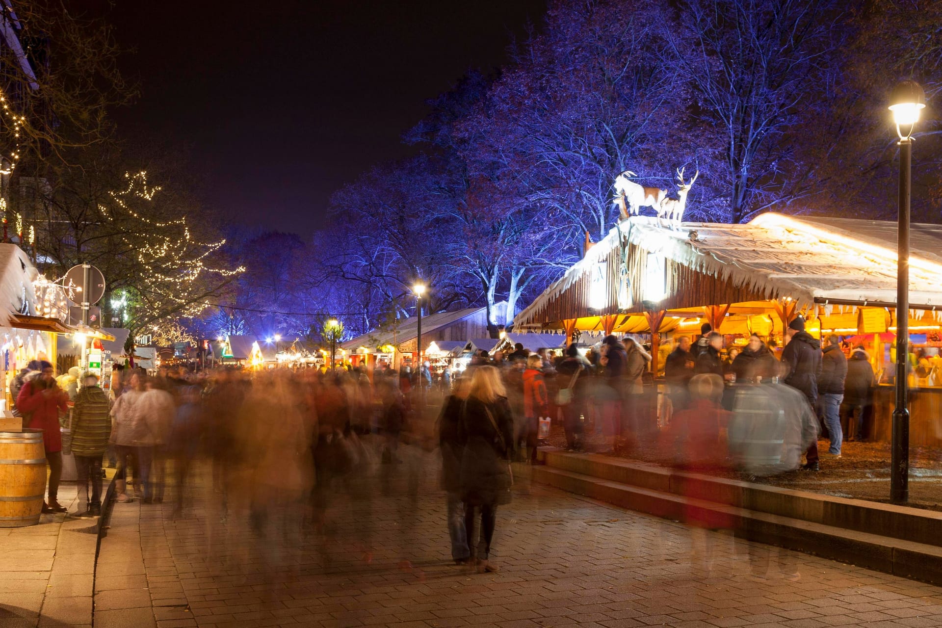
<svg viewBox="0 0 942 628"><path fill-rule="evenodd" d="M911 226L910 302L942 310L942 227ZM517 314L515 329L766 299L896 301L896 224L763 214L747 224L630 217Z"/></svg>

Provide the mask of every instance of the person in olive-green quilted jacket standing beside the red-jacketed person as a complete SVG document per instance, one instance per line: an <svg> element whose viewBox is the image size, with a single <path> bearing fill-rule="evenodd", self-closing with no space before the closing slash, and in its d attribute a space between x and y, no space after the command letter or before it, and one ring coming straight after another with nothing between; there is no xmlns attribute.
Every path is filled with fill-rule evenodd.
<svg viewBox="0 0 942 628"><path fill-rule="evenodd" d="M98 386L97 375L89 371L83 373L79 381L82 387L75 395L72 409L72 453L78 475L76 514L97 517L102 514L102 459L111 436L111 404Z"/></svg>

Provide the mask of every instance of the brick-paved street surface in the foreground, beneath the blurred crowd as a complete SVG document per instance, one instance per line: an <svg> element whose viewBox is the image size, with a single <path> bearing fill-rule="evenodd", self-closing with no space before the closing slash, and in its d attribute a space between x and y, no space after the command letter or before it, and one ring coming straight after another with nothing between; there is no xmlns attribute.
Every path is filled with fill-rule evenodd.
<svg viewBox="0 0 942 628"><path fill-rule="evenodd" d="M531 485L526 468L498 512L500 571L469 572L449 559L436 454L400 455L337 486L319 533L297 507L254 528L246 499L223 511L205 465L182 516L141 505L157 625L942 625L942 588Z"/></svg>

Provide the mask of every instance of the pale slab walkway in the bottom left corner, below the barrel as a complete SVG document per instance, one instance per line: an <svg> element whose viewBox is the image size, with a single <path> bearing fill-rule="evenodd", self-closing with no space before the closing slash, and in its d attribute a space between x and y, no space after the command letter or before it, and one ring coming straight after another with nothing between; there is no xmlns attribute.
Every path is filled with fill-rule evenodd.
<svg viewBox="0 0 942 628"><path fill-rule="evenodd" d="M75 493L74 484L59 487L71 513ZM0 628L90 626L97 532L96 520L65 514L0 528Z"/></svg>

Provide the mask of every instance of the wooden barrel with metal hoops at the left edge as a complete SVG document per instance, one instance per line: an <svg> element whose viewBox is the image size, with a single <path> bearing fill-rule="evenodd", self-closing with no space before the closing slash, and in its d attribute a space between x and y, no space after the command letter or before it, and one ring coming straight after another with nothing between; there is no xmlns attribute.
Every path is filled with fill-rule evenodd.
<svg viewBox="0 0 942 628"><path fill-rule="evenodd" d="M40 523L45 491L42 430L0 432L0 527Z"/></svg>

